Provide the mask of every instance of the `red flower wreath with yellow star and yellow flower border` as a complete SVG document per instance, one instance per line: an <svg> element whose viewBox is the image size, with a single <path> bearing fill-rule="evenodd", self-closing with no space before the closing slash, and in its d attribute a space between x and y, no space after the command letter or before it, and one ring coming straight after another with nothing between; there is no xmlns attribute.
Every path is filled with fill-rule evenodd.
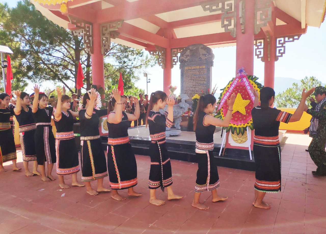
<svg viewBox="0 0 326 234"><path fill-rule="evenodd" d="M258 91L258 94L260 95L260 89L263 88L263 85L257 82L259 79L256 76L247 76L247 79L252 86L253 89ZM230 89L232 82L234 79L230 80L229 84L224 88L219 96L219 101L217 105L221 103L222 97L224 94ZM253 108L253 101L250 98L250 95L244 85L244 82L240 78L237 82L237 85L234 87L234 90L232 90L231 93L234 93L236 96L240 96L241 99L247 100L250 102L245 105L245 115L243 113L240 113L239 111L233 112L230 125L228 127L225 127L226 132L229 132L231 130L232 134L236 133L237 135L243 135L246 131L246 128L249 127L251 130L254 129L254 125L252 123L252 116L251 116L251 110ZM236 110L238 105L240 105L239 102L235 102L233 105L233 109ZM224 119L226 114L228 113L228 104L225 102L222 107L216 112L215 118Z"/></svg>

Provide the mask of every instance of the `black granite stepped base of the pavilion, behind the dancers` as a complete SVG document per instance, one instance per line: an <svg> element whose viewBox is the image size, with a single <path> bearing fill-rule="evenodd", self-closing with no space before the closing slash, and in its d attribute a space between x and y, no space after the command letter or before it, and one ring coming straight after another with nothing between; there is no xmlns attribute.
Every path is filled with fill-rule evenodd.
<svg viewBox="0 0 326 234"><path fill-rule="evenodd" d="M150 139L146 137L129 137L135 154L149 155ZM103 149L107 149L106 139L102 137ZM195 153L195 142L166 140L166 146L171 159L187 162L197 162ZM247 171L255 171L255 160L250 160L248 150L226 149L224 156L218 156L221 144L214 144L213 155L217 166L235 168ZM223 152L223 151L222 151ZM251 151L253 155L253 152Z"/></svg>

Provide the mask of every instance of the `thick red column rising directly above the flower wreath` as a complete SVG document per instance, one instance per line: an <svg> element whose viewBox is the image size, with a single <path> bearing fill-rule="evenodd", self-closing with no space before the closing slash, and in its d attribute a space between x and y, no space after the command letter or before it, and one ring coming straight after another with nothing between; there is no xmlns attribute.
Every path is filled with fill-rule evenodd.
<svg viewBox="0 0 326 234"><path fill-rule="evenodd" d="M244 34L241 32L239 19L239 0L236 2L237 14L237 48L236 48L236 74L238 69L244 67L249 75L254 73L254 13L255 1L245 0Z"/></svg>

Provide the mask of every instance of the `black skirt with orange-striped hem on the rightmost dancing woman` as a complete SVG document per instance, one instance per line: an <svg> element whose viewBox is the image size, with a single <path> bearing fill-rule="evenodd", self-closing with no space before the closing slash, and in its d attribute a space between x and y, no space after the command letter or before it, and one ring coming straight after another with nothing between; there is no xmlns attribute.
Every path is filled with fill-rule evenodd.
<svg viewBox="0 0 326 234"><path fill-rule="evenodd" d="M255 189L260 192L281 191L281 147L254 145L256 164Z"/></svg>

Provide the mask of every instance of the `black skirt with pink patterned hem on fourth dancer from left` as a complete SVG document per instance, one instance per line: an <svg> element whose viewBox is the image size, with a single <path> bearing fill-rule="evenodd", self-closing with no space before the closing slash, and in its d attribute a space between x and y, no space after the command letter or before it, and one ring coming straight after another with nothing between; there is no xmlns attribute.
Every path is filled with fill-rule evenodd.
<svg viewBox="0 0 326 234"><path fill-rule="evenodd" d="M68 175L80 171L75 137L55 140L57 174Z"/></svg>

